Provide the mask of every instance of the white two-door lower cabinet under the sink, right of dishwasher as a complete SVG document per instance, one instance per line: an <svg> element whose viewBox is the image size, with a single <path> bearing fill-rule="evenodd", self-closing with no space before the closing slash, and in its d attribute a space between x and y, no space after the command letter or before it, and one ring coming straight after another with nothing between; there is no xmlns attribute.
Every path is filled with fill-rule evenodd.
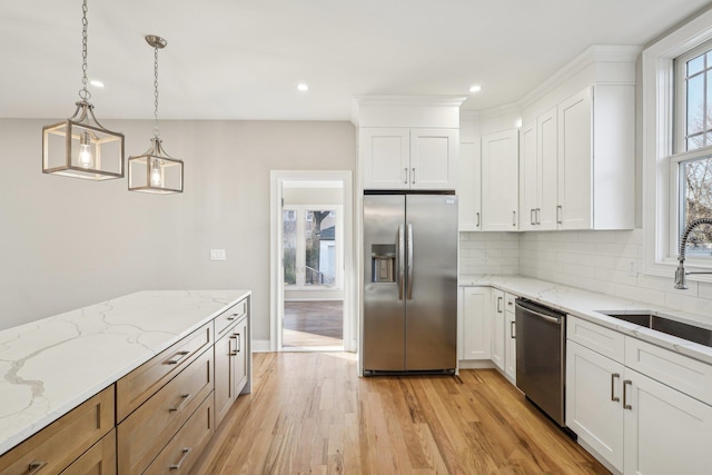
<svg viewBox="0 0 712 475"><path fill-rule="evenodd" d="M615 359L587 344L611 349ZM659 367L678 367L683 385L676 387L685 378L709 380L709 367L571 316L566 345L566 425L586 448L624 474L712 474L712 406L631 369L631 355L640 352L629 349L649 350L646 359L654 356Z"/></svg>

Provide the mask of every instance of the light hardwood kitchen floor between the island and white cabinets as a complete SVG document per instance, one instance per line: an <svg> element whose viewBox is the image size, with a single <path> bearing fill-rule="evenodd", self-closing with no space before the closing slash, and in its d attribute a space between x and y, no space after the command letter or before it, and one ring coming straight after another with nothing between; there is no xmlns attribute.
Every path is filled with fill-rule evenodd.
<svg viewBox="0 0 712 475"><path fill-rule="evenodd" d="M198 474L607 474L494 369L359 378L347 353L254 355Z"/></svg>

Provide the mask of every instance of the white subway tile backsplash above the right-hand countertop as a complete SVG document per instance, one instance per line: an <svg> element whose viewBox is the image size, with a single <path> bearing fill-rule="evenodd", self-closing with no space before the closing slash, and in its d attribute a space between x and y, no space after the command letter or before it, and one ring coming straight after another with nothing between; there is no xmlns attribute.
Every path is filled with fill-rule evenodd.
<svg viewBox="0 0 712 475"><path fill-rule="evenodd" d="M643 232L461 232L461 274L518 274L617 295L712 319L712 284L673 288L670 277L640 273Z"/></svg>

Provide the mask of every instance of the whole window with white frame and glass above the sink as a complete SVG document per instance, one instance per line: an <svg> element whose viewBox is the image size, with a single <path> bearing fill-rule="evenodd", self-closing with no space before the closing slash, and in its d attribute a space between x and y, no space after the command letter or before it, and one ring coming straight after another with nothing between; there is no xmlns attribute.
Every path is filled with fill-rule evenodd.
<svg viewBox="0 0 712 475"><path fill-rule="evenodd" d="M712 216L712 10L643 51L641 97L643 271L672 279L685 225ZM711 243L691 235L690 270L712 268Z"/></svg>

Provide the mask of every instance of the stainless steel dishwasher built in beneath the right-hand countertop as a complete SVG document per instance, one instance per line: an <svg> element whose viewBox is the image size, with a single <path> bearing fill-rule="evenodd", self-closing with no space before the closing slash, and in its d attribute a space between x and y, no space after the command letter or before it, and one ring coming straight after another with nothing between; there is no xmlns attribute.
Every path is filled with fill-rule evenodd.
<svg viewBox="0 0 712 475"><path fill-rule="evenodd" d="M516 386L565 426L566 315L516 299Z"/></svg>

